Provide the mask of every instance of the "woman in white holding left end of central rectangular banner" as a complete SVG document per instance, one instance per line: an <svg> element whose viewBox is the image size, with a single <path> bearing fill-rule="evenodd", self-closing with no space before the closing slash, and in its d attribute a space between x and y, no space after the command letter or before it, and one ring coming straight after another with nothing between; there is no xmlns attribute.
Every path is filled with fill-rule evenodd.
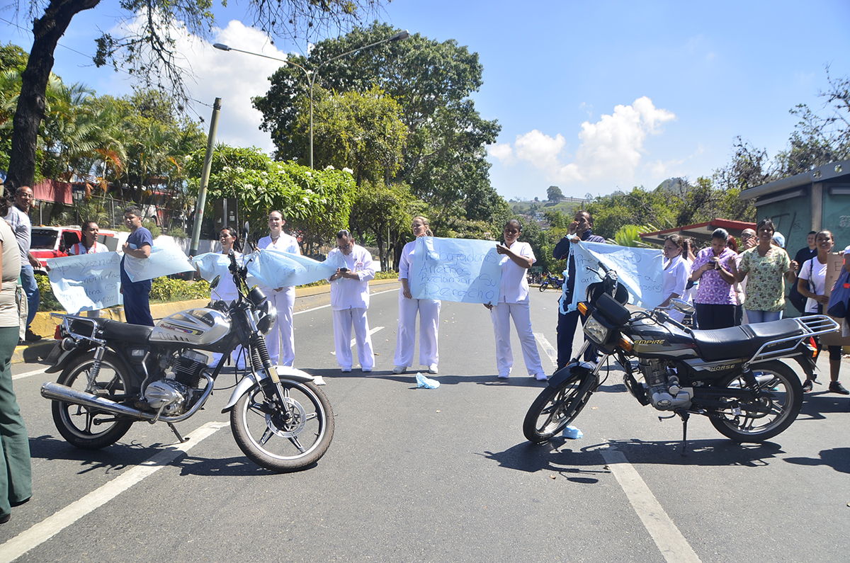
<svg viewBox="0 0 850 563"><path fill-rule="evenodd" d="M413 218L413 236L433 236L428 219ZM404 373L413 363L413 346L416 343L416 313L419 314L419 363L428 366L428 373L437 373L439 353L437 335L439 332L439 307L436 299L414 299L411 294L410 270L413 267L413 253L416 241L405 244L399 259L399 336L395 343L395 361L393 373Z"/></svg>

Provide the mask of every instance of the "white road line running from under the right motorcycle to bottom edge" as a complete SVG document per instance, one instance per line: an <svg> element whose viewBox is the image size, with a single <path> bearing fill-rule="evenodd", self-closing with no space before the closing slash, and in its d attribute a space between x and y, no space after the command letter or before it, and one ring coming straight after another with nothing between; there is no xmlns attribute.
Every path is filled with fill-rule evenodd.
<svg viewBox="0 0 850 563"><path fill-rule="evenodd" d="M622 452L614 449L601 450L605 463L620 482L632 508L638 513L655 545L668 563L700 563L700 557L691 548L688 540L670 520L670 516L649 490L638 471L632 467Z"/></svg>

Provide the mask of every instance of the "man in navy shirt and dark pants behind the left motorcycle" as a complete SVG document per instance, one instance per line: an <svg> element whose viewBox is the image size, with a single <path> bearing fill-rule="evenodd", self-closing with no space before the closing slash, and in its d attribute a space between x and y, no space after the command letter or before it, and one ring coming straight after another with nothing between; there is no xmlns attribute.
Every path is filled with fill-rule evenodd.
<svg viewBox="0 0 850 563"><path fill-rule="evenodd" d="M142 226L141 213L142 210L137 207L124 211L124 225L130 230L130 236L127 236L127 242L122 247L124 258L121 259L121 293L124 295L124 317L127 322L153 327L154 319L150 316L150 280L131 282L127 270L124 270L124 260L127 256L136 259L149 258L150 248L154 244L150 230Z"/></svg>

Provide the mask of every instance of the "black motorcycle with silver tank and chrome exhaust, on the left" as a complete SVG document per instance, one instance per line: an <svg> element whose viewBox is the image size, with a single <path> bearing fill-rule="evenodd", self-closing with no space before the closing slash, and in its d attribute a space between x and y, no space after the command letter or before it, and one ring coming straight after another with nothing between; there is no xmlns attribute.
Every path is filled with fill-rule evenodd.
<svg viewBox="0 0 850 563"><path fill-rule="evenodd" d="M333 412L314 378L293 367L274 366L263 334L276 311L258 287L246 284L246 265L230 253L229 271L239 290L232 304L184 310L156 327L73 315L62 318L60 340L47 372L61 372L42 385L53 400L56 429L84 449L110 446L134 422L174 426L198 412L212 395L218 374L240 344L246 369L222 412L242 452L276 472L304 469L331 445ZM212 287L218 284L218 276ZM207 365L204 352L222 354Z"/></svg>

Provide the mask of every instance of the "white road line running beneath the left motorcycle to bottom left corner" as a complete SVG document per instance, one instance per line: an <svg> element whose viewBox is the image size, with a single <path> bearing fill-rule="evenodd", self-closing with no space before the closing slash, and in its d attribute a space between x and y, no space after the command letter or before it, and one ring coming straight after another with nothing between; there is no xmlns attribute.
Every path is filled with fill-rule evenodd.
<svg viewBox="0 0 850 563"><path fill-rule="evenodd" d="M190 438L189 441L157 453L154 457L117 476L104 486L89 492L85 497L69 504L64 509L54 513L54 515L48 516L29 530L26 530L26 532L21 532L8 540L8 542L0 545L0 563L14 561L30 549L46 542L50 537L54 537L54 535L65 529L65 527L71 526L71 524L83 516L88 515L89 512L108 503L122 492L127 491L131 486L142 481L145 477L153 475L174 459L180 457L185 452L189 452L190 449L200 444L202 440L214 434L216 430L228 425L229 423L226 422L210 422L202 425L186 436Z"/></svg>

